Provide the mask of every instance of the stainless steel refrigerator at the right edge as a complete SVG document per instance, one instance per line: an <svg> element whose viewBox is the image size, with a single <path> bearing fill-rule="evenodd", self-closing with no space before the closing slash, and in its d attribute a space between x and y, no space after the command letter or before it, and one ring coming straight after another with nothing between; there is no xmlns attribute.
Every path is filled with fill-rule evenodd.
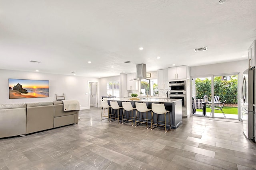
<svg viewBox="0 0 256 170"><path fill-rule="evenodd" d="M254 107L255 104L255 83L254 83L255 67L249 68L243 72L242 83L242 121L244 135L248 139L254 140Z"/></svg>

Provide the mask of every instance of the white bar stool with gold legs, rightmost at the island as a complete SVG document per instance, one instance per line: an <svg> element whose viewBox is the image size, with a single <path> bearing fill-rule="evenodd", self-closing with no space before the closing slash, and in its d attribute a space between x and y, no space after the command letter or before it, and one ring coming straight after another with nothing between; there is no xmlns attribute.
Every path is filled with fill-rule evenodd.
<svg viewBox="0 0 256 170"><path fill-rule="evenodd" d="M165 107L164 107L164 104L154 104L152 103L152 118L151 118L151 130L154 129L155 127L157 126L163 126L164 127L164 132L166 133L169 129L171 129L171 114L170 114L170 111L169 110L166 110ZM154 124L154 121L153 121L153 115L154 113L157 114L157 117L156 117L156 124ZM170 128L166 131L166 113L169 113L169 125L170 125ZM158 121L158 115L162 115L164 114L164 125L159 125L157 122L163 122L163 121ZM153 125L156 125L155 127L153 127Z"/></svg>

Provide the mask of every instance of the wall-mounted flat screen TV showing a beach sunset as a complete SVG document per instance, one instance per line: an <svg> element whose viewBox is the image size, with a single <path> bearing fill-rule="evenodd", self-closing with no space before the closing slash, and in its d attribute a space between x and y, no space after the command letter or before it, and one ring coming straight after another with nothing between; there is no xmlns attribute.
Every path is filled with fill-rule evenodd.
<svg viewBox="0 0 256 170"><path fill-rule="evenodd" d="M49 80L25 80L9 78L9 98L49 97Z"/></svg>

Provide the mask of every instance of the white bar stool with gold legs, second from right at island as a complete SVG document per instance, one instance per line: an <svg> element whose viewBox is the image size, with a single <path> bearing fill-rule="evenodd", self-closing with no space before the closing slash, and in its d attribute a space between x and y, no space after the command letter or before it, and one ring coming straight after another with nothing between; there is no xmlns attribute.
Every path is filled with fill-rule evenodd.
<svg viewBox="0 0 256 170"><path fill-rule="evenodd" d="M148 129L149 128L148 127L148 111L151 111L151 109L148 109L146 103L135 102L135 106L136 106L136 109L137 109L136 116L135 116L135 127L137 125L142 125L142 123L146 123L147 129ZM137 112L139 112L138 121L137 121ZM140 120L140 113L142 113L141 120ZM143 118L143 113L146 113L146 119ZM151 111L151 114L152 114L152 111ZM146 120L146 122L143 121L143 120ZM137 122L138 122L138 124L137 124Z"/></svg>

